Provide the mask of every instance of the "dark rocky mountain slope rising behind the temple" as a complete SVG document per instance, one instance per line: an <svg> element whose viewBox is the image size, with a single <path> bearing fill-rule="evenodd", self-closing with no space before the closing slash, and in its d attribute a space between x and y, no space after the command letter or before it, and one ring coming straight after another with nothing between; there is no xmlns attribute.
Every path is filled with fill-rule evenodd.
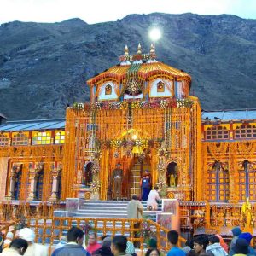
<svg viewBox="0 0 256 256"><path fill-rule="evenodd" d="M207 110L256 108L256 20L234 15L128 15L89 25L9 22L0 26L0 112L9 119L65 116L67 104L85 102L86 80L119 63L159 26L159 61L192 76L190 94Z"/></svg>

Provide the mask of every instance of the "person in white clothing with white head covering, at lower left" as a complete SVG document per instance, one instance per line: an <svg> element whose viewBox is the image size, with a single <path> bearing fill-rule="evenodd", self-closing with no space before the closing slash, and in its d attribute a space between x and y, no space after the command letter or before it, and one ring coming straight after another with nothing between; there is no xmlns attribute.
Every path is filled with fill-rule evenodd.
<svg viewBox="0 0 256 256"><path fill-rule="evenodd" d="M32 229L24 228L19 231L19 237L27 241L28 247L25 252L25 256L47 256L48 248L44 245L35 243L35 232Z"/></svg>

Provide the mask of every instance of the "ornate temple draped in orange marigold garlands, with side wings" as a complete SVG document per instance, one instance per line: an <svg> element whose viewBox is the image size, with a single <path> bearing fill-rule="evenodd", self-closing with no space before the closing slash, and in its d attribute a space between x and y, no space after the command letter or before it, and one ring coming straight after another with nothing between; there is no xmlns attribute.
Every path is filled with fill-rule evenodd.
<svg viewBox="0 0 256 256"><path fill-rule="evenodd" d="M235 212L235 225L234 203L256 201L256 110L201 112L189 74L157 61L153 45L134 55L126 46L87 84L90 102L74 103L66 119L0 125L2 201L110 200L117 163L120 199L141 195L148 170L162 198L180 201L183 225L196 203L211 207L209 224Z"/></svg>

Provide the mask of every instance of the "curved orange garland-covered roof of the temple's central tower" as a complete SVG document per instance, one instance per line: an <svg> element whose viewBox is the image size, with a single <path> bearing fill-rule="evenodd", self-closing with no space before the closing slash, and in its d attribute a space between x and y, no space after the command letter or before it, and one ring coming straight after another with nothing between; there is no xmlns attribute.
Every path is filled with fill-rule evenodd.
<svg viewBox="0 0 256 256"><path fill-rule="evenodd" d="M126 73L131 72L132 67L137 67L137 75L141 79L148 79L154 75L167 75L176 79L186 79L189 82L191 81L191 77L188 73L183 72L177 68L168 66L162 62L149 62L149 63L141 63L141 64L131 64L131 65L116 65L114 67L110 67L107 71L100 73L96 77L89 79L87 84L90 86L96 84L98 81L102 79L116 79L121 80L125 79Z"/></svg>

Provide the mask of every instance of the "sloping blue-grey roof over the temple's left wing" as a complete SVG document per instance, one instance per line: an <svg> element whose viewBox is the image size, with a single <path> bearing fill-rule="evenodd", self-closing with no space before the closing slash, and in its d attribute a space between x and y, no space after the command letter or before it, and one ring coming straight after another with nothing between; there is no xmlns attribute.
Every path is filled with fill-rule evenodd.
<svg viewBox="0 0 256 256"><path fill-rule="evenodd" d="M38 119L9 121L0 125L0 131L34 131L64 129L65 119Z"/></svg>

